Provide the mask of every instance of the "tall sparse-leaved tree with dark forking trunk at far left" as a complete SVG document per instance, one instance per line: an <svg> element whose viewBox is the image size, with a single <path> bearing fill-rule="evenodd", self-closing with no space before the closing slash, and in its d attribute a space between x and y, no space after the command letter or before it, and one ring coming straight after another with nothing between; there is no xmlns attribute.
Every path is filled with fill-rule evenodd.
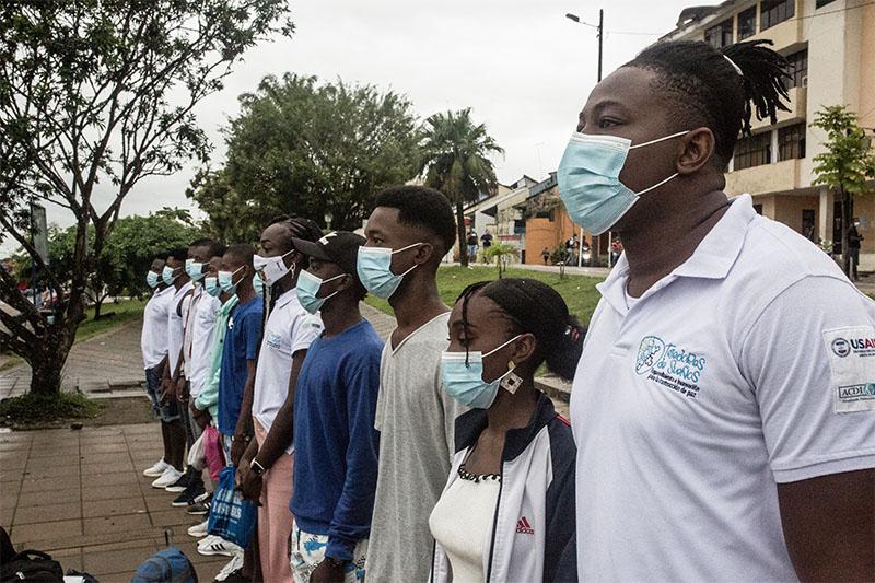
<svg viewBox="0 0 875 583"><path fill-rule="evenodd" d="M21 0L0 8L0 237L13 238L63 301L49 320L0 270L0 349L59 389L92 261L139 180L172 174L210 145L194 109L259 39L290 34L285 0ZM108 198L103 209L95 197ZM28 233L34 200L67 209L69 281ZM93 238L89 231L93 232Z"/></svg>

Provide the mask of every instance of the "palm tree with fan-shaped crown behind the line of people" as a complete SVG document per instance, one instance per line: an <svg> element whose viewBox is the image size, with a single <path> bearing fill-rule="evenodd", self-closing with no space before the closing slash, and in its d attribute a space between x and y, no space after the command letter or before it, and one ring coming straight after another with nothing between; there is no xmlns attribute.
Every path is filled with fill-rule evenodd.
<svg viewBox="0 0 875 583"><path fill-rule="evenodd" d="M470 108L434 114L425 120L420 141L419 175L425 184L443 191L456 207L459 261L468 265L465 244L465 203L495 191L495 168L491 154L503 154L483 124L471 121Z"/></svg>

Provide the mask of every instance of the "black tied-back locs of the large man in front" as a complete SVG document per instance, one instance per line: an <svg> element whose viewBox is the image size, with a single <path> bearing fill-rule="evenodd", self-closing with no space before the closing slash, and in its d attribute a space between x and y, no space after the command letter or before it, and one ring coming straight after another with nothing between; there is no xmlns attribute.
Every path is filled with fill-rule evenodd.
<svg viewBox="0 0 875 583"><path fill-rule="evenodd" d="M656 43L623 67L657 74L651 89L670 103L673 123L682 129L710 128L714 162L725 170L739 133L750 136L755 110L757 119L768 117L772 124L779 109L789 110L782 102L789 98L788 61L767 48L771 44L760 39L716 49L702 40Z"/></svg>

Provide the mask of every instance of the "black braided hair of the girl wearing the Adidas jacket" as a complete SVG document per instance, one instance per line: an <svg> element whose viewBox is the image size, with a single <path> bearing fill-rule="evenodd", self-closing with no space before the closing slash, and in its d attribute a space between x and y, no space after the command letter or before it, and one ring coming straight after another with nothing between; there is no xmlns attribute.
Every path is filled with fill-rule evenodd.
<svg viewBox="0 0 875 583"><path fill-rule="evenodd" d="M571 380L583 351L584 328L568 311L555 289L536 279L505 278L468 285L456 300L462 302L462 325L468 327L468 302L474 295L492 300L512 322L513 334L532 334L537 349L533 370L547 361L547 368Z"/></svg>

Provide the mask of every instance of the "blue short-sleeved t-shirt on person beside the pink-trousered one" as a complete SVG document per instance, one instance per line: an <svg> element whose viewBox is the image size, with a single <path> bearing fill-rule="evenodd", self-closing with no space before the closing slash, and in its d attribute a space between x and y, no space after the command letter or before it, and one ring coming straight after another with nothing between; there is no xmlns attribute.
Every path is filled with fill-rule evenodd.
<svg viewBox="0 0 875 583"><path fill-rule="evenodd" d="M246 361L256 360L261 340L264 306L260 298L237 304L228 319L219 373L219 432L233 435L237 427L243 392L249 370Z"/></svg>

